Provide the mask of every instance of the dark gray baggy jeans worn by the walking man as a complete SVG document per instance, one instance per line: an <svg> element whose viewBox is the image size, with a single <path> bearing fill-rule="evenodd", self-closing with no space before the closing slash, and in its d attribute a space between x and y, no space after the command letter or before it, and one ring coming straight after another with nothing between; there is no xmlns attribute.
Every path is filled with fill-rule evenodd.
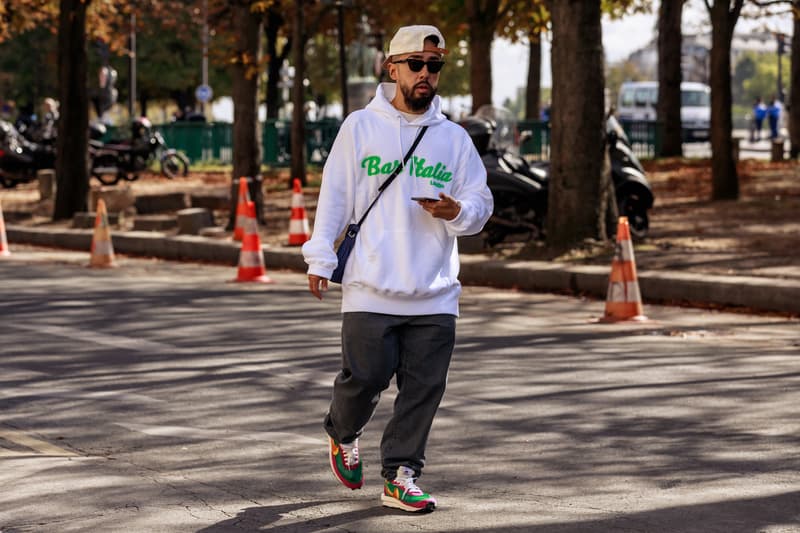
<svg viewBox="0 0 800 533"><path fill-rule="evenodd" d="M351 442L364 431L381 393L397 375L394 413L381 439L381 475L425 466L425 445L447 384L455 345L453 315L344 313L342 370L333 384L325 431Z"/></svg>

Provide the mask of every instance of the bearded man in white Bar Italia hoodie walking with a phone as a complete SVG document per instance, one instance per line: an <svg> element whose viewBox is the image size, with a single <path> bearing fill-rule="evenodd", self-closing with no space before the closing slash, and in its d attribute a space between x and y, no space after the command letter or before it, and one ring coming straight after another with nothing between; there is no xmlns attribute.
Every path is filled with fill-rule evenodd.
<svg viewBox="0 0 800 533"><path fill-rule="evenodd" d="M346 263L342 369L324 428L333 473L361 488L358 438L396 376L394 412L381 440L381 502L412 512L436 507L416 480L455 343L456 237L479 232L492 213L481 158L436 96L446 53L434 26L397 30L384 62L394 83L381 83L367 107L342 123L323 169L313 235L303 245L309 289L322 299L338 264L334 241L401 169L363 221Z"/></svg>

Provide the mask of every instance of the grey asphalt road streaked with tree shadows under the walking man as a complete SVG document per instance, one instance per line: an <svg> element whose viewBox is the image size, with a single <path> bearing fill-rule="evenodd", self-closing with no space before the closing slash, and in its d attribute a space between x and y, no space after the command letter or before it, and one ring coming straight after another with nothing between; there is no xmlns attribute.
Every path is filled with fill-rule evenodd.
<svg viewBox="0 0 800 533"><path fill-rule="evenodd" d="M0 260L0 531L800 531L800 322L466 288L420 485L337 484L321 419L338 289L235 268Z"/></svg>

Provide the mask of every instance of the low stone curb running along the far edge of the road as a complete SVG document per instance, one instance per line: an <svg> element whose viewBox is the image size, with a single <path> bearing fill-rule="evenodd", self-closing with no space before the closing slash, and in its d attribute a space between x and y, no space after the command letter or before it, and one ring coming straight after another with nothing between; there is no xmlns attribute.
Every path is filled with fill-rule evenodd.
<svg viewBox="0 0 800 533"><path fill-rule="evenodd" d="M42 229L7 226L9 242L71 250L91 247L92 229ZM151 231L113 235L115 252L172 261L207 261L236 266L239 243L194 235ZM305 272L299 247L264 248L268 268ZM478 285L527 291L569 292L605 298L609 269L545 261L500 261L462 255L459 279ZM800 281L754 276L718 276L689 272L639 271L645 302L692 306L735 306L752 311L800 314Z"/></svg>

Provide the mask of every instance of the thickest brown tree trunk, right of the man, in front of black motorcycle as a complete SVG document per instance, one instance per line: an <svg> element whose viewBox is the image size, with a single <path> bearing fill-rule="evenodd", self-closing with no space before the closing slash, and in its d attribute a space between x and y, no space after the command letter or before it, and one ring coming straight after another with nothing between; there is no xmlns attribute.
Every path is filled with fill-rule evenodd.
<svg viewBox="0 0 800 533"><path fill-rule="evenodd" d="M605 239L603 41L600 0L553 2L552 137L547 246Z"/></svg>

